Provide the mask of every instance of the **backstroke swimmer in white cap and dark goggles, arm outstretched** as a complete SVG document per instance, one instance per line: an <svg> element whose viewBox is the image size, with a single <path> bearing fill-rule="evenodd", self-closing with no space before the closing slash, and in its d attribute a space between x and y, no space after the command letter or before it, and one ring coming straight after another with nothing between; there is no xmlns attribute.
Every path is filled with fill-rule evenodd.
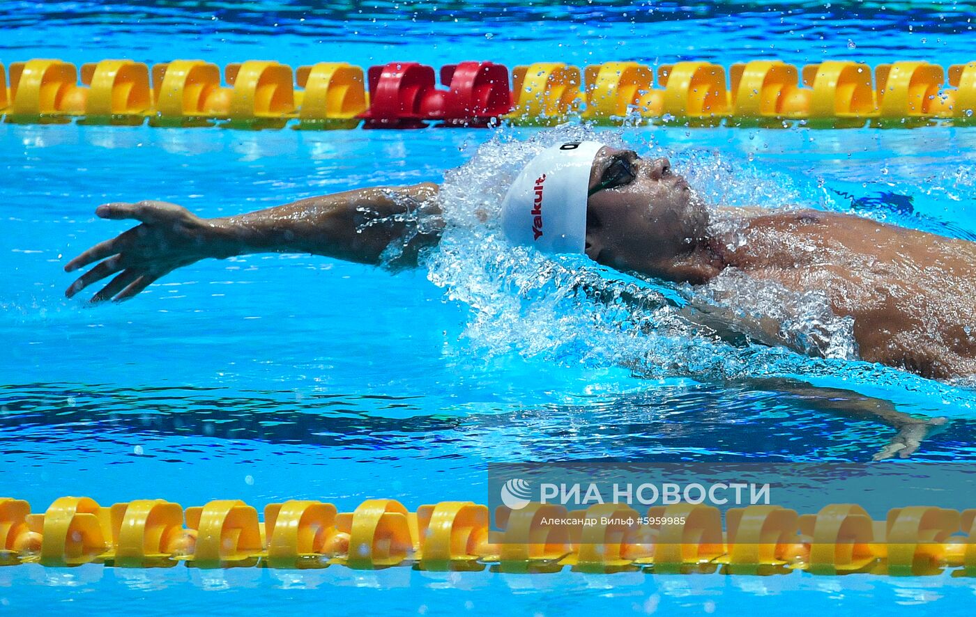
<svg viewBox="0 0 976 617"><path fill-rule="evenodd" d="M140 224L71 259L67 272L96 265L65 293L114 275L92 300L125 300L200 259L254 252L379 264L400 243L398 260L416 264L444 228L438 188L365 188L206 219L163 202L105 204L102 218ZM404 214L414 211L429 224L408 234ZM715 231L713 217L725 231ZM595 141L556 144L532 159L508 189L502 227L514 244L586 253L674 283L703 285L734 270L818 291L835 315L853 320L863 360L936 379L976 374L976 243L852 214L709 209L667 158ZM776 328L758 329L777 339Z"/></svg>

